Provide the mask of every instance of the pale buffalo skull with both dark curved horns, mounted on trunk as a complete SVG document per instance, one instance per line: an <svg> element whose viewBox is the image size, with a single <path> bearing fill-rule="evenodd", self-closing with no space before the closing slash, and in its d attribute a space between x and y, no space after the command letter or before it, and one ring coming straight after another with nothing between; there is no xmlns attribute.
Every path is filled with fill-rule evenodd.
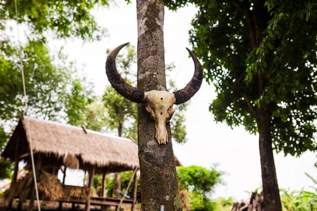
<svg viewBox="0 0 317 211"><path fill-rule="evenodd" d="M155 137L158 144L165 144L168 141L166 122L171 119L174 113L173 105L188 101L200 88L202 82L201 64L195 54L186 48L195 64L194 76L189 83L183 89L173 93L158 90L144 92L127 84L117 71L116 57L121 48L127 44L128 43L124 43L118 46L108 55L106 61L106 74L108 80L115 90L123 97L136 103L145 103L146 111L151 114L151 118L155 122Z"/></svg>

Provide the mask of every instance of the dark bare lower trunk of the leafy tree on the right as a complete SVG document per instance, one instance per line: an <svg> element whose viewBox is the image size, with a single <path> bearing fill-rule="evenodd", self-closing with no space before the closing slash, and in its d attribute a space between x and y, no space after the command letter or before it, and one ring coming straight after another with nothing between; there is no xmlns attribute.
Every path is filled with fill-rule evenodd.
<svg viewBox="0 0 317 211"><path fill-rule="evenodd" d="M267 106L262 106L258 109L257 124L264 198L263 206L266 211L281 211L282 207L272 148L271 113Z"/></svg>

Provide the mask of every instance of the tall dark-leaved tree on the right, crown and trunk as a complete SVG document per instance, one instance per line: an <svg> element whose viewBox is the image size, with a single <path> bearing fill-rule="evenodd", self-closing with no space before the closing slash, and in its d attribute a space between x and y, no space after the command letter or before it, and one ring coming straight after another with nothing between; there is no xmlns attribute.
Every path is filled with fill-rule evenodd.
<svg viewBox="0 0 317 211"><path fill-rule="evenodd" d="M198 6L190 41L217 98L216 121L259 134L265 210L281 211L273 150L317 150L317 3L311 0L164 0Z"/></svg>

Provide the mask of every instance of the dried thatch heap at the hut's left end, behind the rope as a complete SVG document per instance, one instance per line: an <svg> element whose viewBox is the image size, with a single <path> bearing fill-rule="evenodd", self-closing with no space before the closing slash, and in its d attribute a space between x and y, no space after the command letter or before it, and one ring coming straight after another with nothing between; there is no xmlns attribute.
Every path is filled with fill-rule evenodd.
<svg viewBox="0 0 317 211"><path fill-rule="evenodd" d="M19 179L9 190L4 193L6 200L13 200L18 196L21 200L28 198L34 191L33 173L28 173L25 177ZM38 189L41 199L56 201L63 196L63 189L59 179L50 173L40 170L38 178Z"/></svg>

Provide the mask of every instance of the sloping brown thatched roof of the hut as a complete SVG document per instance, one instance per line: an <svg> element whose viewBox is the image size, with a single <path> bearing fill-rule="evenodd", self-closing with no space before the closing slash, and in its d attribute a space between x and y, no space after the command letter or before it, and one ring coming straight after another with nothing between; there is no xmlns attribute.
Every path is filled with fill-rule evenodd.
<svg viewBox="0 0 317 211"><path fill-rule="evenodd" d="M14 160L18 139L18 153L23 157L29 151L30 137L34 153L59 158L56 165L72 155L79 159L81 169L95 165L108 172L139 167L138 146L130 139L27 116L20 119L2 157Z"/></svg>

